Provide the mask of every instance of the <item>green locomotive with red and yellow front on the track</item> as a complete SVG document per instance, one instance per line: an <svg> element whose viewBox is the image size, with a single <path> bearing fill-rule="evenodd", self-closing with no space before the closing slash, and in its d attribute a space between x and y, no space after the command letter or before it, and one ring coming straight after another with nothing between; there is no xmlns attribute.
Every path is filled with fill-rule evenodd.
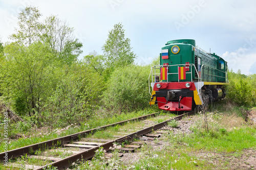
<svg viewBox="0 0 256 170"><path fill-rule="evenodd" d="M168 41L161 52L160 65L151 68L148 78L150 104L163 110L188 111L202 105L205 98L216 101L225 97L227 62L221 57L196 47L193 39Z"/></svg>

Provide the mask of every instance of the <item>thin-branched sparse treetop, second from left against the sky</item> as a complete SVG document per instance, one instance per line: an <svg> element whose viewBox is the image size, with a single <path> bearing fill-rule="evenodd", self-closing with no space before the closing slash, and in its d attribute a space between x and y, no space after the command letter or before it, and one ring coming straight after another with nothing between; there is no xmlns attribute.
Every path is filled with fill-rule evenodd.
<svg viewBox="0 0 256 170"><path fill-rule="evenodd" d="M73 63L82 53L82 43L73 37L74 28L56 16L47 17L41 24L41 40L49 44L52 53L66 64Z"/></svg>

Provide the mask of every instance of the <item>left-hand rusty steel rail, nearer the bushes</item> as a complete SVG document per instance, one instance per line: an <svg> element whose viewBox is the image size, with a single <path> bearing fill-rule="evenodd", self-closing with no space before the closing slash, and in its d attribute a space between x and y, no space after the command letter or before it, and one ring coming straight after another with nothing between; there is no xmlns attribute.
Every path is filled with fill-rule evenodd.
<svg viewBox="0 0 256 170"><path fill-rule="evenodd" d="M108 127L113 127L113 126L117 126L117 125L123 125L126 122L132 122L132 121L135 121L135 120L143 120L147 117L156 116L158 113L159 112L152 113L152 114L148 114L148 115L145 115L145 116L132 118L132 119L129 119L129 120L124 120L122 122L118 122L118 123L114 123L114 124L105 125L105 126L102 126L102 127L90 129L90 130L87 130L87 131L78 132L78 133L75 133L75 134L71 134L71 135L67 135L67 136L47 140L47 141L44 141L44 142L31 144L31 145L28 145L26 147L10 150L10 151L7 151L7 152L2 152L2 153L0 153L0 163L4 163L6 155L8 155L8 160L14 159L14 158L17 158L19 156L29 154L30 151L36 151L36 150L42 149L42 148L47 149L47 148L51 148L53 145L55 146L55 145L61 145L61 144L64 144L64 143L68 143L68 142L71 142L74 139L77 139L78 137L82 137L82 136L85 136L87 134L94 134L98 130L106 129Z"/></svg>

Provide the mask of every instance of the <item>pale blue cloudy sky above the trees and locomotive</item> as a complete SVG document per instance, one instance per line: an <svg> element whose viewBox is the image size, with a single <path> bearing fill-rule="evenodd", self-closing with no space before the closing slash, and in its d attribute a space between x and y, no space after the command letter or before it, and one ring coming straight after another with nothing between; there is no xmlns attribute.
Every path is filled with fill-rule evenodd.
<svg viewBox="0 0 256 170"><path fill-rule="evenodd" d="M216 53L229 69L256 74L256 1L253 0L0 0L2 42L17 28L17 14L37 7L41 19L57 15L75 29L83 54L101 48L121 22L137 64L150 64L169 40L194 39L196 46Z"/></svg>

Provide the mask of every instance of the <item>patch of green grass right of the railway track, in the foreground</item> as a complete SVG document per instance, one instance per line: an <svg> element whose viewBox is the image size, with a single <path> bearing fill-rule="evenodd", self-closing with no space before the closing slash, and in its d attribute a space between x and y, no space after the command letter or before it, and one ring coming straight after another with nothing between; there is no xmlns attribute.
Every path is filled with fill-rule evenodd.
<svg viewBox="0 0 256 170"><path fill-rule="evenodd" d="M229 169L232 156L239 158L243 154L243 150L256 149L256 126L246 123L242 125L227 124L226 119L230 122L233 119L238 122L237 120L240 119L236 119L233 115L226 118L225 116L209 114L210 120L213 121L209 123L211 124L209 133L202 125L195 125L198 130L190 135L174 135L170 132L164 139L165 142L170 143L168 147L154 152L150 147L143 148L140 161L131 166L134 167L133 169ZM226 124L223 125L223 122ZM202 123L200 121L198 124ZM199 155L221 153L225 157L199 158L196 153ZM217 160L219 164L210 163L211 160Z"/></svg>

